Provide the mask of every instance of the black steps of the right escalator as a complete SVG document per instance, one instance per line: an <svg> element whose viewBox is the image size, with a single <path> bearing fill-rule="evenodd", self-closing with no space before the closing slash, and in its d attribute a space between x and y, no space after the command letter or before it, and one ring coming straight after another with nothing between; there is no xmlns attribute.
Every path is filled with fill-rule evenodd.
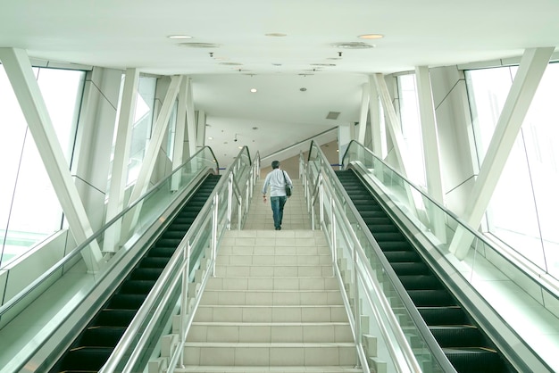
<svg viewBox="0 0 559 373"><path fill-rule="evenodd" d="M458 372L513 372L353 170L336 171L430 332Z"/></svg>

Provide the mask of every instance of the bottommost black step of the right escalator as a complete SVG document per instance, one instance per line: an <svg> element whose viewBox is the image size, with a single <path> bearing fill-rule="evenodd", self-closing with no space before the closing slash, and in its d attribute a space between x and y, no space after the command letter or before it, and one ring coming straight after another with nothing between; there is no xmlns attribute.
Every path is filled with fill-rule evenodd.
<svg viewBox="0 0 559 373"><path fill-rule="evenodd" d="M443 352L458 372L506 371L494 350L482 347L444 348Z"/></svg>

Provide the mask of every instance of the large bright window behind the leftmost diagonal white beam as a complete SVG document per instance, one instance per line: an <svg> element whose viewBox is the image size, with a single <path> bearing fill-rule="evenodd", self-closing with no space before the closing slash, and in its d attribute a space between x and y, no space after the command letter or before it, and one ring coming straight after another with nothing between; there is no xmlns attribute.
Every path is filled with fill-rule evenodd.
<svg viewBox="0 0 559 373"><path fill-rule="evenodd" d="M34 69L70 162L85 73ZM62 228L63 211L4 67L0 65L0 267Z"/></svg>

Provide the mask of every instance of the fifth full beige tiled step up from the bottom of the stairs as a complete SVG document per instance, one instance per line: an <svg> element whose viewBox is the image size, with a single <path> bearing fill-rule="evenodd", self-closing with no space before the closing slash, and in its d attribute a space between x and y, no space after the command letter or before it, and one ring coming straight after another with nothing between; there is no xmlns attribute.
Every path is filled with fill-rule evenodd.
<svg viewBox="0 0 559 373"><path fill-rule="evenodd" d="M338 290L337 278L210 278L208 290Z"/></svg>

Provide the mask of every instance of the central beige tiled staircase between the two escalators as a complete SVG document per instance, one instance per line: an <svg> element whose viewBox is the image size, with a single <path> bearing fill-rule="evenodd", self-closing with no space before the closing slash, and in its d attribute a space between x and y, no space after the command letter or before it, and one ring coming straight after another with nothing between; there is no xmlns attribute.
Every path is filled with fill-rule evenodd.
<svg viewBox="0 0 559 373"><path fill-rule="evenodd" d="M226 232L176 372L363 371L330 249L323 232L302 229L310 222L294 183L282 230L257 193L252 229Z"/></svg>

